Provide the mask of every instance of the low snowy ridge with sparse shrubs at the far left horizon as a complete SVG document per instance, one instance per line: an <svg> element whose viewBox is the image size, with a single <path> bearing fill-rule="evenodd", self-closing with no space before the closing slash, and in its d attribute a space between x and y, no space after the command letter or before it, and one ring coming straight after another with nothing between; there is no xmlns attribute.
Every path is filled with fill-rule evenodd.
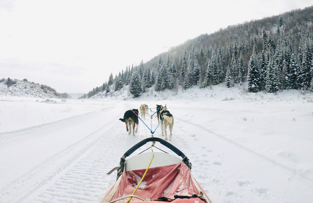
<svg viewBox="0 0 313 203"><path fill-rule="evenodd" d="M18 96L35 98L71 98L67 93L58 93L55 91L55 89L49 86L39 85L38 83L36 84L34 82L14 79L12 80L14 81L13 84L8 87L8 79L1 81L0 97Z"/></svg>

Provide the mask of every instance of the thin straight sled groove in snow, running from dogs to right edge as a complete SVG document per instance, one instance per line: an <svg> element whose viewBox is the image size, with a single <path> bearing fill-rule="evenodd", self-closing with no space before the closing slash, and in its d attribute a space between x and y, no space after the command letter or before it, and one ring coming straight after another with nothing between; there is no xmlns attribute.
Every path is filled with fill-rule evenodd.
<svg viewBox="0 0 313 203"><path fill-rule="evenodd" d="M252 153L252 154L254 154L254 155L256 155L256 156L259 156L260 158L262 158L262 159L264 159L264 160L266 160L266 161L269 161L269 162L271 162L271 163L273 163L273 164L275 164L275 165L277 165L277 166L280 166L280 167L282 167L282 168L284 168L284 169L286 169L286 170L288 170L288 171L291 171L291 172L295 173L295 169L292 169L292 168L289 168L289 167L287 167L287 166L284 166L284 165L282 165L282 164L280 164L280 163L277 163L276 161L271 160L271 159L269 159L269 158L267 158L267 157L265 157L265 156L263 156L263 155L261 155L261 154L258 154L258 153L256 153L256 152L254 152L254 151L252 151L252 150L250 150L250 149L244 147L244 146L241 146L241 145L239 145L238 143L236 143L236 142L234 142L234 141L232 141L232 140L229 140L229 139L227 139L227 138L225 138L225 137L223 137L223 136L221 136L221 135L218 135L218 134L216 134L215 132L206 129L205 127L203 127L203 126L201 126L201 125L194 124L194 123L191 123L191 122L189 122L189 121L182 120L182 119L179 119L179 118L175 118L175 119L180 120L180 121L185 122L185 123L188 123L188 124L190 124L190 125L192 125L192 126L201 128L201 129L203 129L203 130L205 130L205 131L207 131L207 132L209 132L209 133L211 133L211 134L213 134L213 135L215 135L215 136L218 136L219 138L222 138L223 140L226 140L226 141L228 141L228 142L234 144L234 145L237 146L237 147L240 147L240 148L242 148L242 149L244 149L244 150L246 150L246 151L249 151L250 153ZM310 178L304 176L303 174L300 174L300 173L296 173L296 174L299 175L299 176L301 176L302 178L305 178L306 180L308 180L308 181L310 181L310 182L313 182L312 179L310 179Z"/></svg>

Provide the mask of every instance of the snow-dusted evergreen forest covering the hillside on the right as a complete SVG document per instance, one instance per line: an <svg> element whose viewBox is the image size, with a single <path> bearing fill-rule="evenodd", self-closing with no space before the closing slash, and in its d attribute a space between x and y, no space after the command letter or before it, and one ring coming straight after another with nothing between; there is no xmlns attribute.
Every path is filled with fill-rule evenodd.
<svg viewBox="0 0 313 203"><path fill-rule="evenodd" d="M231 25L212 34L171 47L138 66L111 73L98 92L117 91L129 85L134 97L146 88L177 90L226 87L247 83L248 92L285 89L313 92L313 6L278 16Z"/></svg>

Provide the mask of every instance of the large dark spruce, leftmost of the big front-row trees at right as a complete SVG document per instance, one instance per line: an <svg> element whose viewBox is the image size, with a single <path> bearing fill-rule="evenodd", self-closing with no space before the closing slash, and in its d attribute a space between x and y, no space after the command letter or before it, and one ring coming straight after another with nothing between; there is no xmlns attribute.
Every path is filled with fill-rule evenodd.
<svg viewBox="0 0 313 203"><path fill-rule="evenodd" d="M260 91L260 73L257 67L256 56L253 52L249 64L248 64L248 92L259 92Z"/></svg>

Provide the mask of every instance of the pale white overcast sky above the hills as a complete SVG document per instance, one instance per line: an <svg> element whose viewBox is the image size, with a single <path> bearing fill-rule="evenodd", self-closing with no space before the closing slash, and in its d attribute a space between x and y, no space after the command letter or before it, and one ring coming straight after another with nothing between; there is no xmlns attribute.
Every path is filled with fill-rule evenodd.
<svg viewBox="0 0 313 203"><path fill-rule="evenodd" d="M88 93L109 74L200 34L313 0L0 0L0 78Z"/></svg>

